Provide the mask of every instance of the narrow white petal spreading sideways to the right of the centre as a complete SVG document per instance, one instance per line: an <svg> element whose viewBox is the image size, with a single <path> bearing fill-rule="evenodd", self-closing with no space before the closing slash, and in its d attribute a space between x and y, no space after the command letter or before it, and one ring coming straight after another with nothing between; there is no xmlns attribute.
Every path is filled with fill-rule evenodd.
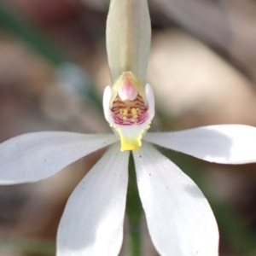
<svg viewBox="0 0 256 256"><path fill-rule="evenodd" d="M211 125L148 133L144 139L210 162L245 164L256 161L256 128L248 125Z"/></svg>

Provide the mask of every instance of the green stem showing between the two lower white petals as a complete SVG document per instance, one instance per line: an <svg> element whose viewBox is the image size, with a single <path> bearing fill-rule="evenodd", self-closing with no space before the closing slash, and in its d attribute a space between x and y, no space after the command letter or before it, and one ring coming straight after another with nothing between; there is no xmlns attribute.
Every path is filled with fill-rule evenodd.
<svg viewBox="0 0 256 256"><path fill-rule="evenodd" d="M130 255L141 255L141 219L143 207L137 189L137 178L134 160L130 155L129 160L129 183L126 201L126 215L130 229Z"/></svg>

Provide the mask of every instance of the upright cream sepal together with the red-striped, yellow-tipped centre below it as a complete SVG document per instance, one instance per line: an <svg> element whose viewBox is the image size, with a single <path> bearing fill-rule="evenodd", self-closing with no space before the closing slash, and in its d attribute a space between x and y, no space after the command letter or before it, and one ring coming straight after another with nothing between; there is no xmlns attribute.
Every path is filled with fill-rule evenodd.
<svg viewBox="0 0 256 256"><path fill-rule="evenodd" d="M121 151L137 150L154 117L154 93L145 84L151 27L147 0L112 0L107 20L108 63L113 86L104 91L105 118Z"/></svg>

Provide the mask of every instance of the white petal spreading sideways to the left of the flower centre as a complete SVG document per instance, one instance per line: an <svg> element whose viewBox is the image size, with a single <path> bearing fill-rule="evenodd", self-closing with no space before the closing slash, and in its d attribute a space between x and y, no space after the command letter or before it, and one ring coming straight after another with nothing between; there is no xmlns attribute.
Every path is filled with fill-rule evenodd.
<svg viewBox="0 0 256 256"><path fill-rule="evenodd" d="M0 144L0 183L38 181L116 141L114 135L61 131L34 132L11 138Z"/></svg>

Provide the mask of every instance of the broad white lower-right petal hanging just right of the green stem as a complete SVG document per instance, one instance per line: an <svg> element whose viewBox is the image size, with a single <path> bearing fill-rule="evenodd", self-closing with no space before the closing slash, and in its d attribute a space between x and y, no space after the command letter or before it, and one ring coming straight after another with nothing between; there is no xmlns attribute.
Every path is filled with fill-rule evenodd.
<svg viewBox="0 0 256 256"><path fill-rule="evenodd" d="M148 230L160 255L217 256L218 226L196 184L152 145L133 152Z"/></svg>

